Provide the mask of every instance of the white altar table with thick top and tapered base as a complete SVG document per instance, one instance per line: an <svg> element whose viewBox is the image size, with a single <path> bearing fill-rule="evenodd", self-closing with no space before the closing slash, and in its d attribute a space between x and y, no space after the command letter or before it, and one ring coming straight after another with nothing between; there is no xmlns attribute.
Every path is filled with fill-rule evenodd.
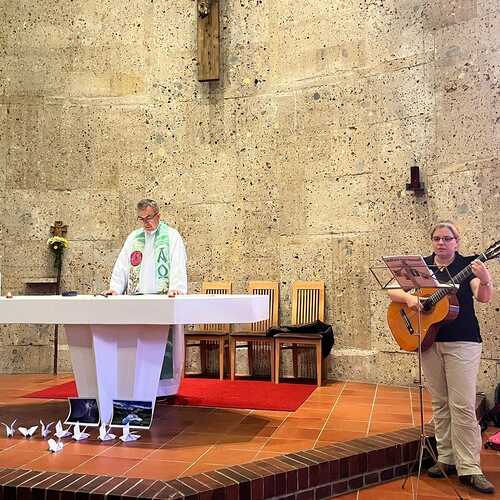
<svg viewBox="0 0 500 500"><path fill-rule="evenodd" d="M0 324L63 324L78 389L97 398L109 422L113 399L176 394L184 368L184 325L251 323L269 317L266 295L78 295L0 298ZM171 328L170 328L171 325ZM160 381L169 330L173 378Z"/></svg>

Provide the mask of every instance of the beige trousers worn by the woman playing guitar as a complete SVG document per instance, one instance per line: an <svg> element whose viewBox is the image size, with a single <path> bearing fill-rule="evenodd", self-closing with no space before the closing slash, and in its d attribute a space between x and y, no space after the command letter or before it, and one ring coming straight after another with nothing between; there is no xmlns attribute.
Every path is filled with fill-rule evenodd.
<svg viewBox="0 0 500 500"><path fill-rule="evenodd" d="M477 342L434 342L422 353L432 397L438 460L458 474L481 474L481 429L476 418L476 380L481 361Z"/></svg>

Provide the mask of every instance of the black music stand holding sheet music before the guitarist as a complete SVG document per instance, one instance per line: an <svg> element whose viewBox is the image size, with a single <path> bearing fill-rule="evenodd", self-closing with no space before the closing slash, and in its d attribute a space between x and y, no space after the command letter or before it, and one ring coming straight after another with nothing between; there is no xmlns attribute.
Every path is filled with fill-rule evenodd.
<svg viewBox="0 0 500 500"><path fill-rule="evenodd" d="M449 281L445 284L439 283L439 281L434 276L434 272L431 270L437 269L438 266L428 266L423 257L420 255L400 255L400 256L390 256L390 257L382 257L385 266L373 266L370 268L370 272L377 280L380 285L381 290L390 291L390 290L403 290L408 292L410 290L414 290L413 295L422 299L425 297L422 295L423 288L445 288L449 290L456 289L456 285L453 281L453 278L450 276L448 269L446 272L448 273ZM381 281L379 276L377 275L376 270L384 269L387 272L387 269L390 271L390 278L388 281ZM386 275L387 276L387 275ZM419 445L417 449L417 456L413 462L413 466L409 468L408 474L401 485L401 488L404 489L406 486L406 482L410 477L411 473L415 470L415 465L418 465L417 471L417 485L415 491L412 490L412 497L418 498L418 487L420 483L420 475L422 472L422 462L424 458L424 452L430 455L430 457L434 460L436 464L439 464L436 453L430 443L429 436L427 436L425 432L424 425L424 384L422 379L422 314L425 314L425 305L422 303L423 308L415 311L413 316L402 313L402 318L404 323L408 328L408 332L410 335L415 335L418 338L417 343L417 355L418 355L418 394L419 394L419 404L420 404L420 435L419 435ZM415 322L416 316L416 322ZM448 480L450 486L453 491L457 495L460 500L463 500L463 497L460 495L458 490L455 488L450 478L446 474L446 471L443 467L439 467L442 471L443 475Z"/></svg>

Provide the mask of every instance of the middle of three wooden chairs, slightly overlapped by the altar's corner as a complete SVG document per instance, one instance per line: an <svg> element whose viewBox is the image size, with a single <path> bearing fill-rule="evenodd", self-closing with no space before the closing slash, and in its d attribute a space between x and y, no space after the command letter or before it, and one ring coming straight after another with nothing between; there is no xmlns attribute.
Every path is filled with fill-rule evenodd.
<svg viewBox="0 0 500 500"><path fill-rule="evenodd" d="M265 333L270 326L276 326L279 322L279 284L274 281L250 281L248 293L269 296L269 319L251 323L249 331L229 335L231 380L236 376L236 349L246 347L250 375L254 373L255 361L269 356L271 381L274 381L274 339L266 337Z"/></svg>

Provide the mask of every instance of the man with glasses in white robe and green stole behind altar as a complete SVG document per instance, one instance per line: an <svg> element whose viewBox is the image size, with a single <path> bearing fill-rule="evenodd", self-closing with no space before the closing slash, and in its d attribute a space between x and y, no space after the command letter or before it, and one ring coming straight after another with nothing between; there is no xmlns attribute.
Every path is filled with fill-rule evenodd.
<svg viewBox="0 0 500 500"><path fill-rule="evenodd" d="M141 227L125 240L103 295L185 294L186 249L181 235L161 220L154 200L137 203L137 222ZM170 336L167 342L160 376L159 393L165 396L177 392L184 368L182 328L176 328L174 339Z"/></svg>

